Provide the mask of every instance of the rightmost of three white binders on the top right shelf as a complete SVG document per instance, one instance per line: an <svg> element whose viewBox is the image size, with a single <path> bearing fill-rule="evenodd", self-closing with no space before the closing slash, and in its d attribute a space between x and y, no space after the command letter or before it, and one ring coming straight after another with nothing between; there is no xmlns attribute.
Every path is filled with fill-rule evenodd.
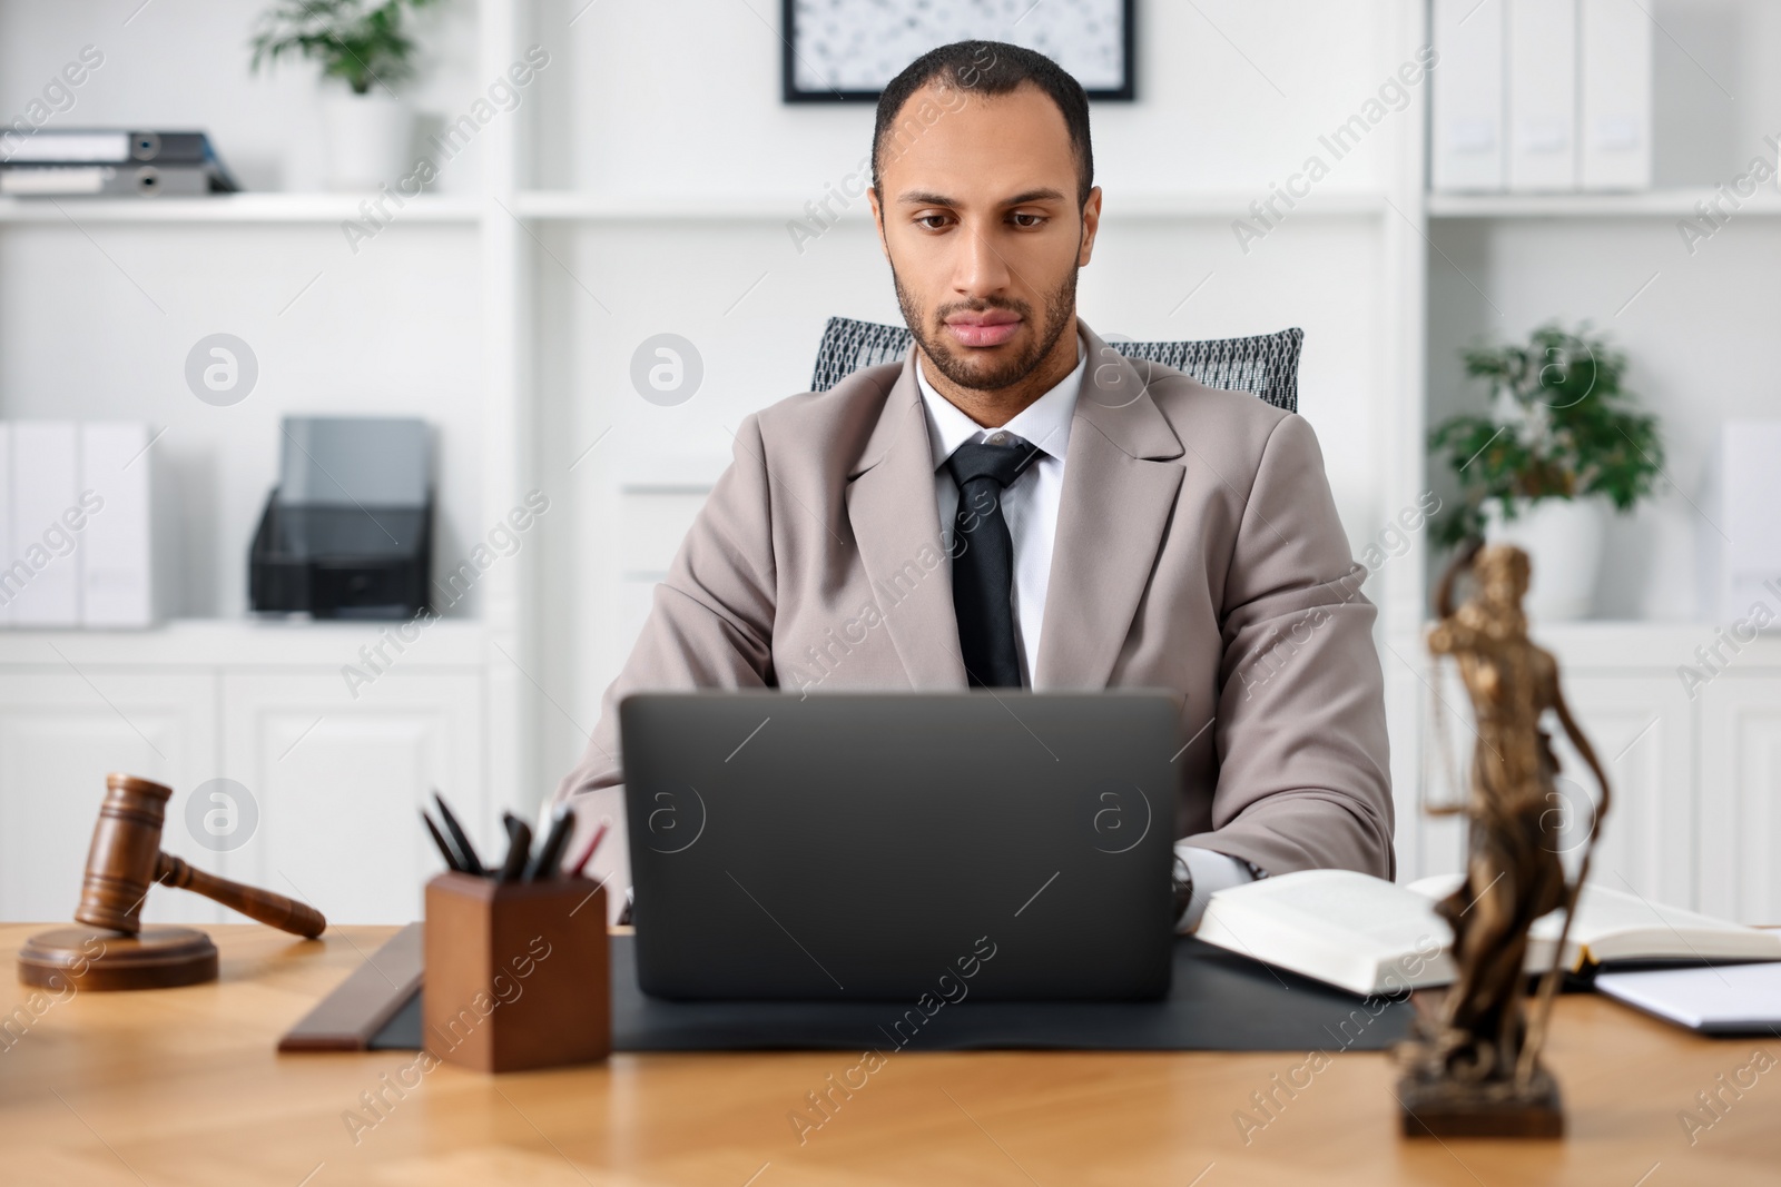
<svg viewBox="0 0 1781 1187"><path fill-rule="evenodd" d="M1637 0L1580 0L1578 27L1580 183L1651 189L1651 18Z"/></svg>

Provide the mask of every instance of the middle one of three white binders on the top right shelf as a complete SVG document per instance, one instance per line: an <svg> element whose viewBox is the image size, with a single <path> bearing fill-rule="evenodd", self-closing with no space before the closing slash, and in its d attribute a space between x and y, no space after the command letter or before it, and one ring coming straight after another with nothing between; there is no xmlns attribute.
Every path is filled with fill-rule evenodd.
<svg viewBox="0 0 1781 1187"><path fill-rule="evenodd" d="M1509 189L1576 189L1576 0L1509 0Z"/></svg>

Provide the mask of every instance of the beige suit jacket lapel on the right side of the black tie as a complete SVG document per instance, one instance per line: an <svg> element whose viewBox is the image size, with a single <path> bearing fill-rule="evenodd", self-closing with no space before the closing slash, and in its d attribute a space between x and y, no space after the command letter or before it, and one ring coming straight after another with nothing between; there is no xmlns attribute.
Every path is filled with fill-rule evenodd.
<svg viewBox="0 0 1781 1187"><path fill-rule="evenodd" d="M1078 322L1081 324L1081 322ZM1104 689L1181 489L1181 440L1143 370L1081 326L1088 370L1070 420L1035 689Z"/></svg>

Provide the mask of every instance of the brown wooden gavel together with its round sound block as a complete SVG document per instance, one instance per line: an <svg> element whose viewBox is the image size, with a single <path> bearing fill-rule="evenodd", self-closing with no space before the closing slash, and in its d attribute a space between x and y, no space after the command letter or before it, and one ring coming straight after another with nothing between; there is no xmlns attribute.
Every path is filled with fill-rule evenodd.
<svg viewBox="0 0 1781 1187"><path fill-rule="evenodd" d="M75 920L32 936L18 954L25 984L61 989L162 989L216 981L217 950L194 927L142 927L150 886L183 886L269 927L313 940L328 927L321 911L269 890L242 886L160 852L173 788L128 774L105 776L105 803L93 826L93 849Z"/></svg>

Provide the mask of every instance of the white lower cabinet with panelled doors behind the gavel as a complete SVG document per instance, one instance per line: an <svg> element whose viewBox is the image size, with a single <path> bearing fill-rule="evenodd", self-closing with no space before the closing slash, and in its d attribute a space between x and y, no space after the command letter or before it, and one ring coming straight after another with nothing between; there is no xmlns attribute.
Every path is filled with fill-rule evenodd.
<svg viewBox="0 0 1781 1187"><path fill-rule="evenodd" d="M306 899L335 924L420 918L442 867L415 813L431 788L499 852L484 634L433 623L406 651L379 653L383 634L223 621L0 632L0 920L71 918L110 771L173 788L162 847L194 867ZM381 664L349 685L342 669L369 671L367 648ZM171 888L150 893L142 918L240 922Z"/></svg>

